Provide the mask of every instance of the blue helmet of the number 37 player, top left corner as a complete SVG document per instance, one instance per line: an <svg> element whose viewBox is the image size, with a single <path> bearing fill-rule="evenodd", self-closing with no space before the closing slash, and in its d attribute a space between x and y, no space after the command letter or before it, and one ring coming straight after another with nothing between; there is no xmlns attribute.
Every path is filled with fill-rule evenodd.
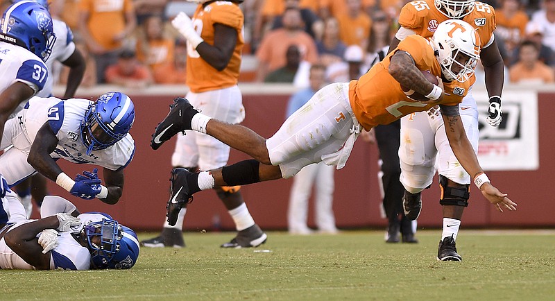
<svg viewBox="0 0 555 301"><path fill-rule="evenodd" d="M0 40L22 46L46 62L56 42L52 18L34 1L17 1L2 16Z"/></svg>

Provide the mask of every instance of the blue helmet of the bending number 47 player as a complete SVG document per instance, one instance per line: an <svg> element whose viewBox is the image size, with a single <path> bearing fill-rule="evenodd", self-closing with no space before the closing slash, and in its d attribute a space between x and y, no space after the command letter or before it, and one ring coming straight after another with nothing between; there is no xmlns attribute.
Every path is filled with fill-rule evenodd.
<svg viewBox="0 0 555 301"><path fill-rule="evenodd" d="M81 121L81 140L87 155L126 137L135 121L135 105L126 94L109 92L89 105Z"/></svg>

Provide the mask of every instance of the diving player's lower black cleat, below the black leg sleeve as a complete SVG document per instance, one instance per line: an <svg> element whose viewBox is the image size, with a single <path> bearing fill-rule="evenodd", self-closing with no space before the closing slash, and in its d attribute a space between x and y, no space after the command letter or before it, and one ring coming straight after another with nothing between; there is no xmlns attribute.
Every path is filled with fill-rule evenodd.
<svg viewBox="0 0 555 301"><path fill-rule="evenodd" d="M170 225L176 225L182 207L193 201L193 195L187 184L187 169L175 168L171 170L170 196L166 205L166 217Z"/></svg>

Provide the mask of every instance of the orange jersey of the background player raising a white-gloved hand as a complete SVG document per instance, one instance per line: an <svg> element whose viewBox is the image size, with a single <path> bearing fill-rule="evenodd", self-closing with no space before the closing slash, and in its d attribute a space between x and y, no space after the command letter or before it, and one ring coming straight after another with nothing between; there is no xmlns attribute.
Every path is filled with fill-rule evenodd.
<svg viewBox="0 0 555 301"><path fill-rule="evenodd" d="M214 45L214 24L223 24L237 30L237 45L228 67L217 71L210 66L198 52L187 43L187 86L191 92L205 92L237 85L239 67L241 67L241 51L243 49L244 15L237 3L216 1L205 8L198 5L193 16L196 32L210 45Z"/></svg>

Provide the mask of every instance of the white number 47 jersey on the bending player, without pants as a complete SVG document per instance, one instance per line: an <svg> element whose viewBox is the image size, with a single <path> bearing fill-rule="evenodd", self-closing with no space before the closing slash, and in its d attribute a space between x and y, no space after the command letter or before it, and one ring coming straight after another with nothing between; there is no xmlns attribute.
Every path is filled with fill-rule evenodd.
<svg viewBox="0 0 555 301"><path fill-rule="evenodd" d="M34 141L37 131L48 121L58 138L58 146L51 157L63 158L77 164L93 164L112 171L121 169L133 160L135 141L131 134L103 150L93 150L87 155L87 147L81 139L80 125L85 112L92 103L87 99L71 98L62 101L56 97L29 99L23 116L26 136Z"/></svg>

